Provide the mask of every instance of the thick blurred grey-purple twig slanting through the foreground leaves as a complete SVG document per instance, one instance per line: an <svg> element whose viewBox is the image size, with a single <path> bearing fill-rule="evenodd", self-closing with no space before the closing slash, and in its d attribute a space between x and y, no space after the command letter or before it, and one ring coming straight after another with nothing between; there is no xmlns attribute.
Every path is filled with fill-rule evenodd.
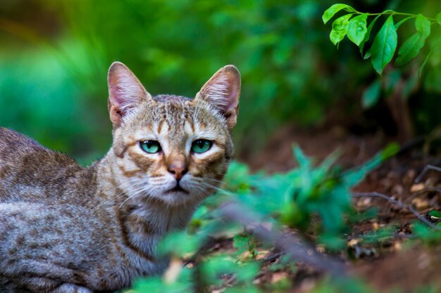
<svg viewBox="0 0 441 293"><path fill-rule="evenodd" d="M259 225L262 216L237 202L223 204L218 209L218 214L220 214L224 221L235 221L243 225L256 226L253 231L257 238L264 242L274 243L275 247L280 249L283 254L289 255L292 259L308 263L321 271L329 272L337 278L344 278L344 275L346 275L342 261L318 253L315 247L306 244L304 240L295 235L287 235L276 228L268 230Z"/></svg>

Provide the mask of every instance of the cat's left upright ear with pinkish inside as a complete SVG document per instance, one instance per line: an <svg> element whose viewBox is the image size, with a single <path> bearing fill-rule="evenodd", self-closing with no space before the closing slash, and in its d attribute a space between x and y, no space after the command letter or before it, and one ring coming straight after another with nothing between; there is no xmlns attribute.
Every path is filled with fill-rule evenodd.
<svg viewBox="0 0 441 293"><path fill-rule="evenodd" d="M108 112L115 127L118 127L124 116L134 110L142 100L151 99L135 74L123 63L112 63L108 69L107 83Z"/></svg>

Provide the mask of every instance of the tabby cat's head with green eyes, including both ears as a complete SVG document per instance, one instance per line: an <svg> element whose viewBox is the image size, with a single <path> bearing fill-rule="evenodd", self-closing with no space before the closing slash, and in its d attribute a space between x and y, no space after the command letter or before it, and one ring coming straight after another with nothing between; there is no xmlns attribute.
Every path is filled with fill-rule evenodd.
<svg viewBox="0 0 441 293"><path fill-rule="evenodd" d="M113 172L125 193L172 206L213 193L232 157L240 96L236 67L222 67L190 99L152 97L128 67L113 63L108 89Z"/></svg>

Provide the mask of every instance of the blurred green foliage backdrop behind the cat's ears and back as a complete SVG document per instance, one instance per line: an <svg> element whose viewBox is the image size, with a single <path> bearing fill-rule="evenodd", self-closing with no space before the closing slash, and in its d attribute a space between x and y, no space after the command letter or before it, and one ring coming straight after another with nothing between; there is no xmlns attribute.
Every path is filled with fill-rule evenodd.
<svg viewBox="0 0 441 293"><path fill-rule="evenodd" d="M190 97L219 67L237 65L243 86L235 134L242 151L259 148L287 122L320 124L330 112L359 119L361 94L375 74L350 44L337 51L329 43L321 15L331 4L0 0L0 125L77 158L101 156L111 142L106 70L113 60L126 63L152 94ZM347 4L429 16L440 10L435 0ZM441 91L440 60L435 48L424 91ZM400 76L411 75L410 67ZM416 122L430 131L441 117L431 105L437 102L419 91L417 102Z"/></svg>

